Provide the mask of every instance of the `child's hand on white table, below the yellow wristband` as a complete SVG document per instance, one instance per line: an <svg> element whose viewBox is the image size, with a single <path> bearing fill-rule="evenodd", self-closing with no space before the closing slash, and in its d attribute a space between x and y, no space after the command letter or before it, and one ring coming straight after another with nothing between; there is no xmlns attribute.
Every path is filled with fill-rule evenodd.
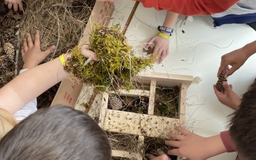
<svg viewBox="0 0 256 160"><path fill-rule="evenodd" d="M157 52L159 54L158 63L161 63L169 54L170 39L164 39L161 36L156 35L148 41L146 47L150 47L152 43L155 44L153 53Z"/></svg>

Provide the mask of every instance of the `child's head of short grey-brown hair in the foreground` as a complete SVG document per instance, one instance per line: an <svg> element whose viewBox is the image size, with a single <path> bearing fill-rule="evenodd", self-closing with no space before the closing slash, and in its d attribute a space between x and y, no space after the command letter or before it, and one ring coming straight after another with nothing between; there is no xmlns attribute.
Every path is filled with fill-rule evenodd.
<svg viewBox="0 0 256 160"><path fill-rule="evenodd" d="M86 113L65 106L39 109L0 141L0 159L111 159L108 138Z"/></svg>

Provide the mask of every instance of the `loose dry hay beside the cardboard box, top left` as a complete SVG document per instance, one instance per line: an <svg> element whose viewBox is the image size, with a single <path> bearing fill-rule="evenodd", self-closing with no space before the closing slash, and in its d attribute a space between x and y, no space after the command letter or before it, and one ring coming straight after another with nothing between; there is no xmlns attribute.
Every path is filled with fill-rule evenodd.
<svg viewBox="0 0 256 160"><path fill-rule="evenodd" d="M92 1L83 0L27 1L20 42L26 33L34 35L39 29L42 50L51 45L57 47L51 58L67 52L78 44L83 35L93 5Z"/></svg>

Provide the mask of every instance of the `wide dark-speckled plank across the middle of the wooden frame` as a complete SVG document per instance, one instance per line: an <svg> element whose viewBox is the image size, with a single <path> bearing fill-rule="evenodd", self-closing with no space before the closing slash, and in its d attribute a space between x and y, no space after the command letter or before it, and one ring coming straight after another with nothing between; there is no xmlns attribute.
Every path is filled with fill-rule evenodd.
<svg viewBox="0 0 256 160"><path fill-rule="evenodd" d="M104 110L104 125L102 129L110 132L122 132L142 136L159 137L172 131L179 119L154 115L143 115L112 109ZM102 114L104 114L102 113Z"/></svg>

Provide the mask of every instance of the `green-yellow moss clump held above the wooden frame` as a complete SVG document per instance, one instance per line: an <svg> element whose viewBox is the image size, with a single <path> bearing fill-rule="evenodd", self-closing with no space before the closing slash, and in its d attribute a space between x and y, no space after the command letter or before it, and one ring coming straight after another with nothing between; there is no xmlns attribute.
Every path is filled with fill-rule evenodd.
<svg viewBox="0 0 256 160"><path fill-rule="evenodd" d="M95 52L99 61L84 65L87 58L81 54L79 47L75 47L65 70L83 83L110 90L131 90L132 77L146 67L152 67L156 60L156 56L151 59L134 56L119 25L106 28L94 23L90 49Z"/></svg>

